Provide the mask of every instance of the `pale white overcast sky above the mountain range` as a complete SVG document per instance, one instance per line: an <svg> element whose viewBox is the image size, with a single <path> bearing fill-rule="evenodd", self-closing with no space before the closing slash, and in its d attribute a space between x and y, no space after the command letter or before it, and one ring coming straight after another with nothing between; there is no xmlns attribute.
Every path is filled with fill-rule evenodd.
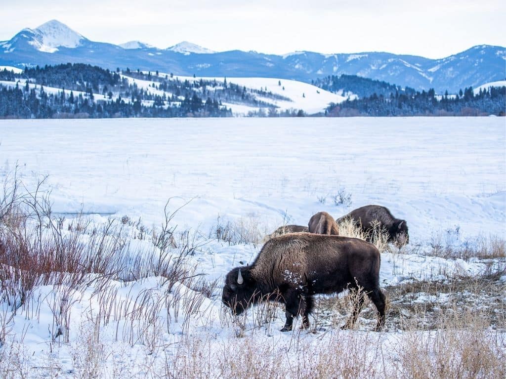
<svg viewBox="0 0 506 379"><path fill-rule="evenodd" d="M0 40L57 19L88 39L183 40L216 51L283 54L386 51L442 58L475 45L506 46L506 1L24 0L0 5Z"/></svg>

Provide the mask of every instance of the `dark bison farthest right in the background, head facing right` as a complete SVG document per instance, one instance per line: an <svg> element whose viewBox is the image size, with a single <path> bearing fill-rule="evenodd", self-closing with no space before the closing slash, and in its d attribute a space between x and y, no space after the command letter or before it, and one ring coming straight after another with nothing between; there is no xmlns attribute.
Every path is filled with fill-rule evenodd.
<svg viewBox="0 0 506 379"><path fill-rule="evenodd" d="M348 215L338 221L350 218L355 221L366 234L366 240L371 241L375 225L384 228L388 232L388 241L397 246L403 246L409 242L408 226L405 220L396 219L388 208L381 205L365 205L352 210Z"/></svg>

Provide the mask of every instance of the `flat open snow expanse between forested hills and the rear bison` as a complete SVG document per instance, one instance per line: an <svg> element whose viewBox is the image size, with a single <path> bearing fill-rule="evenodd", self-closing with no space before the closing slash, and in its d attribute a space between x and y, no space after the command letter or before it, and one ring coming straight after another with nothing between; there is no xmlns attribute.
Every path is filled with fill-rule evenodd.
<svg viewBox="0 0 506 379"><path fill-rule="evenodd" d="M28 178L50 174L55 212L78 212L82 204L86 212L150 224L160 221L167 198L195 197L178 216L181 226L208 230L218 215L252 215L273 230L285 214L304 225L319 210L348 213L330 199L344 188L352 207L382 204L408 220L414 239L455 226L466 236L504 235L503 121L4 120L0 156L2 173L17 161Z"/></svg>

